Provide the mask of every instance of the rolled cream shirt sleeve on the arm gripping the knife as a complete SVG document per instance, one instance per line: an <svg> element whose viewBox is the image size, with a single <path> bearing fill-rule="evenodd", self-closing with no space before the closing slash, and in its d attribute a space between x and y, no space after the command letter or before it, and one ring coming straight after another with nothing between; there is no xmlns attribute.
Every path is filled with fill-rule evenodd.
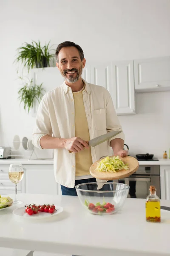
<svg viewBox="0 0 170 256"><path fill-rule="evenodd" d="M52 135L51 121L49 117L48 104L45 96L42 98L37 110L37 117L32 134L32 143L35 147L42 149L40 139L42 136Z"/></svg>

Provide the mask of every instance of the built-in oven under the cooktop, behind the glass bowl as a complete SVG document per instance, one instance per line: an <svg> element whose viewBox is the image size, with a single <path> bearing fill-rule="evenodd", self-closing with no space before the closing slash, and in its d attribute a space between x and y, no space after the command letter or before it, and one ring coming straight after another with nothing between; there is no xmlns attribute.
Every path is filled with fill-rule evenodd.
<svg viewBox="0 0 170 256"><path fill-rule="evenodd" d="M150 185L156 186L156 195L161 198L159 165L139 165L139 169L133 175L118 182L130 186L127 198L146 198Z"/></svg>

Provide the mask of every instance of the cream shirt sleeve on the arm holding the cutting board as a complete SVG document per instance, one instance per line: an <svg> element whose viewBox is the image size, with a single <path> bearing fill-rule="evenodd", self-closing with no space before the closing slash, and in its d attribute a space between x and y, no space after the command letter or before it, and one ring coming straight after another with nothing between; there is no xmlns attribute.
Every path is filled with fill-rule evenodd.
<svg viewBox="0 0 170 256"><path fill-rule="evenodd" d="M118 135L116 135L115 137L111 138L109 140L109 145L111 145L111 140L114 139L122 139L123 141L125 141L125 134L122 131L122 126L120 125L118 116L116 114L114 105L113 105L113 101L111 98L110 93L108 92L108 90L106 91L106 124L107 124L107 132L110 131L115 131L115 130L119 130L121 131L121 133L119 133Z"/></svg>

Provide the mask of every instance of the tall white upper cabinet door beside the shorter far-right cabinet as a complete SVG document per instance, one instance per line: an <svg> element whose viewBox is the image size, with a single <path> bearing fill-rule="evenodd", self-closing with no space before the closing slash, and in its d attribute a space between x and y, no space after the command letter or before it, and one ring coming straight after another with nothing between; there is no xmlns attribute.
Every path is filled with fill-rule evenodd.
<svg viewBox="0 0 170 256"><path fill-rule="evenodd" d="M135 114L133 61L116 61L113 70L113 103L117 114Z"/></svg>

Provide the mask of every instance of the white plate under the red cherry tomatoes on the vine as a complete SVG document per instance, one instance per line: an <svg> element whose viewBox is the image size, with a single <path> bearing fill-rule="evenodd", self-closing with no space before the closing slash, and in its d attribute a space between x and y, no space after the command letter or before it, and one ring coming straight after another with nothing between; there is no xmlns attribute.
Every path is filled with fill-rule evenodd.
<svg viewBox="0 0 170 256"><path fill-rule="evenodd" d="M63 211L63 208L60 206L55 206L56 210L53 213L48 213L48 212L38 212L37 214L33 214L33 215L28 215L28 213L26 213L26 207L20 207L17 209L14 209L13 214L20 216L21 218L26 218L26 219L43 219L43 218L51 218L59 213L61 213Z"/></svg>

